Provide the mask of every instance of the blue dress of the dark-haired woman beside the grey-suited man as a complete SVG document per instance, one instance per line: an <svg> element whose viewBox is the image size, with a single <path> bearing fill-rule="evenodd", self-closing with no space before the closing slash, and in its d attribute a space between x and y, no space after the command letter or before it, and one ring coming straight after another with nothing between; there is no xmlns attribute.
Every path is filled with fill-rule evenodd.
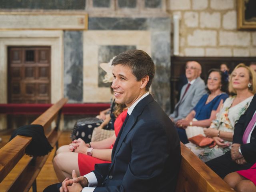
<svg viewBox="0 0 256 192"><path fill-rule="evenodd" d="M220 101L223 99L223 102L228 98L228 94L222 93L218 96L216 96L213 100L211 100L208 104L205 104L207 101L209 94L205 94L202 96L202 98L198 101L196 106L194 107L194 111L196 112L196 115L194 118L196 118L198 121L209 119L212 113L212 110L217 110ZM186 135L186 131L184 129L178 128L178 135L180 137L180 141L183 144L188 143L188 137Z"/></svg>

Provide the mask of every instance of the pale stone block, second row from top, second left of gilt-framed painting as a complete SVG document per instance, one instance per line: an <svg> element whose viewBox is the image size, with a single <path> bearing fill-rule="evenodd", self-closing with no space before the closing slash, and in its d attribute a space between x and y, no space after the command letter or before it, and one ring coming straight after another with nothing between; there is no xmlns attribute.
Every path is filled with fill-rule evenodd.
<svg viewBox="0 0 256 192"><path fill-rule="evenodd" d="M201 28L220 28L220 13L214 12L212 14L208 12L200 13L200 27Z"/></svg>

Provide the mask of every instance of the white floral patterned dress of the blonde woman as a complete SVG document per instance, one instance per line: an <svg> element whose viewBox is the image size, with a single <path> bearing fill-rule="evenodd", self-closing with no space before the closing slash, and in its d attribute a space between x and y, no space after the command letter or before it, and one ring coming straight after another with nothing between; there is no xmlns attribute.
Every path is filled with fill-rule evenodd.
<svg viewBox="0 0 256 192"><path fill-rule="evenodd" d="M225 100L225 102L222 105L222 108L220 109L220 112L216 115L216 119L212 121L210 128L215 128L217 130L224 132L234 133L234 126L236 122L238 121L240 116L244 114L244 112L250 105L253 96L250 96L246 100L231 107L234 98L236 98L236 96L229 97ZM223 155L224 153L231 149L232 142L227 140L224 140L224 142L229 142L229 147L222 148L219 147L218 145L216 145L214 148L199 147L195 144L192 144L191 142L186 144L186 146L190 148L190 150L192 150L192 152L196 154L203 162L207 162L209 160L212 160L216 157Z"/></svg>

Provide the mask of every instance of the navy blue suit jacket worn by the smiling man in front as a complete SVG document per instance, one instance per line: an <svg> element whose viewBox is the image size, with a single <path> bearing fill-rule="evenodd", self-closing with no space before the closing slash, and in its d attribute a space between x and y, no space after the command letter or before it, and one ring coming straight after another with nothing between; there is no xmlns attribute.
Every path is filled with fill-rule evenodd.
<svg viewBox="0 0 256 192"><path fill-rule="evenodd" d="M111 164L96 164L94 192L175 191L180 140L174 124L151 95L132 111L118 134Z"/></svg>

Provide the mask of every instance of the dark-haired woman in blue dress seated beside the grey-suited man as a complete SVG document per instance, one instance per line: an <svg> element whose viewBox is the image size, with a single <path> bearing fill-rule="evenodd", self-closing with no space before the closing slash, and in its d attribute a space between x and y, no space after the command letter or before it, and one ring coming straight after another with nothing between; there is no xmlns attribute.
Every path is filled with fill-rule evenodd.
<svg viewBox="0 0 256 192"><path fill-rule="evenodd" d="M188 138L204 133L203 128L210 126L220 106L228 98L225 93L227 84L224 73L218 69L209 70L206 86L208 93L202 96L185 119L176 122L181 142L188 143Z"/></svg>

